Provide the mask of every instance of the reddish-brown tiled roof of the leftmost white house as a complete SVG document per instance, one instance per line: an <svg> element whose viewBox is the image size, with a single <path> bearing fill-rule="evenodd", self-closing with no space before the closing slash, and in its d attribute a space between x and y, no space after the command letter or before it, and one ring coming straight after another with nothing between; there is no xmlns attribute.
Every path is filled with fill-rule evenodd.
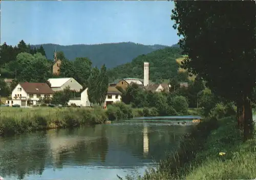
<svg viewBox="0 0 256 180"><path fill-rule="evenodd" d="M51 87L47 83L23 82L19 83L26 93L53 94Z"/></svg>

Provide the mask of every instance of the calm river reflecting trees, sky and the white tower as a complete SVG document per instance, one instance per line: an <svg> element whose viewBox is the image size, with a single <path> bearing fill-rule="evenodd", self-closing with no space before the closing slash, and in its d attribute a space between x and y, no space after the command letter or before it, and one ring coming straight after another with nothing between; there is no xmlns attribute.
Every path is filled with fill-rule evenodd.
<svg viewBox="0 0 256 180"><path fill-rule="evenodd" d="M112 124L26 133L0 139L5 179L117 179L141 174L177 149L192 123L125 120Z"/></svg>

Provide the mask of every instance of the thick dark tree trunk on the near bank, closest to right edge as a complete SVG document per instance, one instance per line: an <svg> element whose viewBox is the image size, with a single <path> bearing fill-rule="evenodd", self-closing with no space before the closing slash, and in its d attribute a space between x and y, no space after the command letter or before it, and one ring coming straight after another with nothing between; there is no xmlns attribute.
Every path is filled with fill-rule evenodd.
<svg viewBox="0 0 256 180"><path fill-rule="evenodd" d="M251 102L245 96L244 98L244 141L252 138L253 134L253 121L252 121L252 108Z"/></svg>

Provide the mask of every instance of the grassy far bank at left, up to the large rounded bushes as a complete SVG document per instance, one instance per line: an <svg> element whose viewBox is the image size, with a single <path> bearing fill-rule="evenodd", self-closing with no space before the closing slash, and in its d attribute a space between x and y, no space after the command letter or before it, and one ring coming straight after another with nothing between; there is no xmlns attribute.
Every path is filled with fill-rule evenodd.
<svg viewBox="0 0 256 180"><path fill-rule="evenodd" d="M100 108L12 108L1 107L0 136L81 124L98 124L108 120Z"/></svg>

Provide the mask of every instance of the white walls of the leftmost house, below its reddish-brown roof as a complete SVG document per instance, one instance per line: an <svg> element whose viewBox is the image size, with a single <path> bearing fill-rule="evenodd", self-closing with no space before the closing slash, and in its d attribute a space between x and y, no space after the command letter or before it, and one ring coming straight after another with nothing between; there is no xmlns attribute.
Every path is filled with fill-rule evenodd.
<svg viewBox="0 0 256 180"><path fill-rule="evenodd" d="M40 98L45 98L45 97L52 98L52 95L53 94L27 93L23 89L23 87L20 84L18 84L12 91L12 97L11 97L12 99L7 100L6 102L9 101L10 106L13 104L19 104L21 106L22 101L26 100L26 106L27 106L27 100L30 99L33 102L33 105L36 105L36 101L38 101ZM13 104L11 102L13 102Z"/></svg>

